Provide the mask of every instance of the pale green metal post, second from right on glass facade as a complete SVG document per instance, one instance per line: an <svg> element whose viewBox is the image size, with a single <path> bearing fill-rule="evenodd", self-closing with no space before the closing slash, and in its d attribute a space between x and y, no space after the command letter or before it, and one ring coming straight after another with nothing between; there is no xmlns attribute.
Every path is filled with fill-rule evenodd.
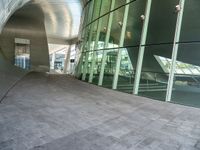
<svg viewBox="0 0 200 150"><path fill-rule="evenodd" d="M152 4L152 0L147 0L140 47L139 47L139 54L138 54L138 60L137 60L137 67L136 67L136 72L135 72L135 81L133 85L133 94L138 94L138 91L139 91L142 63L143 63L145 44L146 44L146 38L147 38L147 30L149 26L151 4Z"/></svg>

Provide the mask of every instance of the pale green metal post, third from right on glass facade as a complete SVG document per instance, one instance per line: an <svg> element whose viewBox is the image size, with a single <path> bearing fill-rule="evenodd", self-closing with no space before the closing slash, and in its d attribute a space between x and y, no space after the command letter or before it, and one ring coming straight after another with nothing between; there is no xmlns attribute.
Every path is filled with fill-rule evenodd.
<svg viewBox="0 0 200 150"><path fill-rule="evenodd" d="M126 0L126 3L129 3L129 2L130 2L130 0ZM125 33L126 33L126 25L127 25L127 20L128 20L129 7L130 7L129 4L127 4L125 6L124 18L123 18L123 22L122 22L122 30L121 30L120 41L119 41L119 47L124 46L124 38L125 38ZM118 52L117 52L117 61L116 61L116 68L115 68L115 74L114 74L114 78L113 78L112 89L117 89L120 63L121 63L121 49L119 48Z"/></svg>

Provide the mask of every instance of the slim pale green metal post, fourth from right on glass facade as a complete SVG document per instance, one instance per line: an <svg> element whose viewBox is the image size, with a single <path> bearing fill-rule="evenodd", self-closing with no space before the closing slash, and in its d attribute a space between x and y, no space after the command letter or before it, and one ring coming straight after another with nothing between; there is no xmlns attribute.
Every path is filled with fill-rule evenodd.
<svg viewBox="0 0 200 150"><path fill-rule="evenodd" d="M115 7L115 0L112 0L111 2L111 7L110 11L112 11ZM112 27L112 22L113 22L113 12L110 13L109 18L108 18L108 25L107 25L107 33L106 33L106 38L105 38L105 43L104 43L104 49L108 48L108 43L110 39L110 33L111 33L111 27ZM103 56L102 56L102 62L101 62L101 71L99 75L99 82L98 85L103 84L103 77L104 77L104 70L105 70L105 64L106 64L106 56L107 56L107 51L103 51Z"/></svg>

